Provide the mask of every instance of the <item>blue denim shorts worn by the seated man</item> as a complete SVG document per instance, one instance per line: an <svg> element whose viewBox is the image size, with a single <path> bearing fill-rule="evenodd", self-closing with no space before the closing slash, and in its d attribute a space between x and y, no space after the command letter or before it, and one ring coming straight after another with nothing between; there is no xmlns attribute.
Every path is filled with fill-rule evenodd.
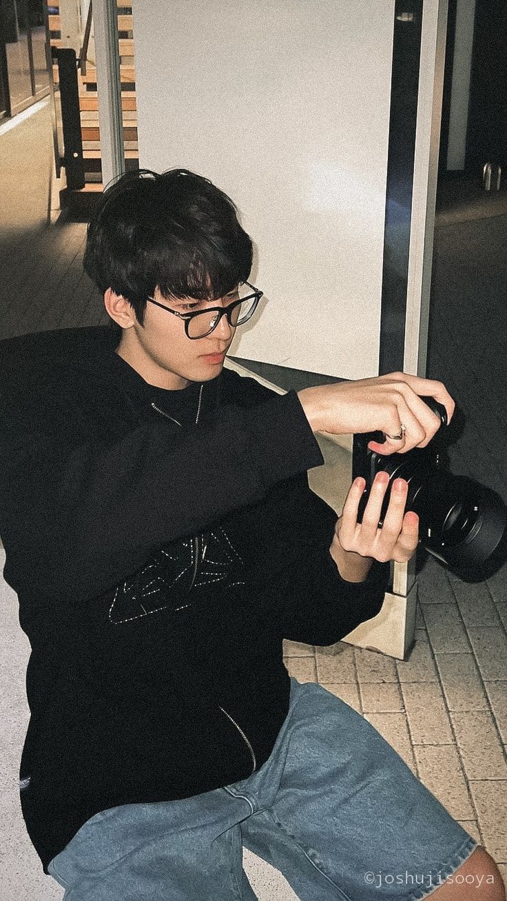
<svg viewBox="0 0 507 901"><path fill-rule="evenodd" d="M293 679L267 762L204 795L105 810L50 863L65 901L255 901L243 845L301 901L422 898L475 842L348 705Z"/></svg>

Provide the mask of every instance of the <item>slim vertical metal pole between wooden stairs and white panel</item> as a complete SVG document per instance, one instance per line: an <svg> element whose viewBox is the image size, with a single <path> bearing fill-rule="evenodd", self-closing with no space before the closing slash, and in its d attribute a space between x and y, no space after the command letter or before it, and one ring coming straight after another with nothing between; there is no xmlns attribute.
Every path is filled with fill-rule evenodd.
<svg viewBox="0 0 507 901"><path fill-rule="evenodd" d="M98 122L104 187L125 171L116 0L93 0Z"/></svg>

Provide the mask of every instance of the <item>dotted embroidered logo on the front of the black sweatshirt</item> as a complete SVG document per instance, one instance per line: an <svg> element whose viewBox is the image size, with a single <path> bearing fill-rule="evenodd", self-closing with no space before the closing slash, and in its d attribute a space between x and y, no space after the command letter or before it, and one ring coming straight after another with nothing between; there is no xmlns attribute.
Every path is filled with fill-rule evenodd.
<svg viewBox="0 0 507 901"><path fill-rule="evenodd" d="M194 603L198 589L244 585L242 569L240 554L220 526L169 544L116 588L109 620L129 623L159 610L184 610Z"/></svg>

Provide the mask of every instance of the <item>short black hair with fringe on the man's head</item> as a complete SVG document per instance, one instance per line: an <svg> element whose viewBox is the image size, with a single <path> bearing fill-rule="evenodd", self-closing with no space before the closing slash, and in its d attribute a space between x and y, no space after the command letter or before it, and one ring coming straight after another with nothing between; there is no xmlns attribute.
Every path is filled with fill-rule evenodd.
<svg viewBox="0 0 507 901"><path fill-rule="evenodd" d="M142 325L160 294L214 300L249 278L252 243L236 206L188 169L136 169L107 187L88 225L84 265L104 293L112 288Z"/></svg>

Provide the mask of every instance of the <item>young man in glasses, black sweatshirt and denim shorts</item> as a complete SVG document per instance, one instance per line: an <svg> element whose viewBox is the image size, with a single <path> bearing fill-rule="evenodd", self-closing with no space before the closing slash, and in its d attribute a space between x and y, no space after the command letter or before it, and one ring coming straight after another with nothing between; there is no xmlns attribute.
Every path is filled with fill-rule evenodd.
<svg viewBox="0 0 507 901"><path fill-rule="evenodd" d="M387 561L417 544L403 480L381 529L382 476L362 524L360 479L337 522L308 488L312 432L408 451L439 424L420 395L453 402L399 373L274 396L222 369L261 294L250 267L209 181L122 177L86 247L116 332L5 350L23 371L3 401L0 526L32 643L32 842L69 901L250 901L243 843L302 901L497 901L485 852L282 661L284 638L328 645L375 615Z"/></svg>

